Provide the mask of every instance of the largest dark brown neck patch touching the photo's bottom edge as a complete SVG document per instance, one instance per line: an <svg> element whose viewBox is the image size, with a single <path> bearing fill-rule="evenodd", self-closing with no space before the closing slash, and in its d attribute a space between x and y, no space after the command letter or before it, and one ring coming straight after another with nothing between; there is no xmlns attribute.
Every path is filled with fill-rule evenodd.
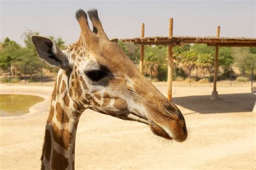
<svg viewBox="0 0 256 170"><path fill-rule="evenodd" d="M69 160L56 150L53 150L52 158L51 169L62 170L69 166Z"/></svg>

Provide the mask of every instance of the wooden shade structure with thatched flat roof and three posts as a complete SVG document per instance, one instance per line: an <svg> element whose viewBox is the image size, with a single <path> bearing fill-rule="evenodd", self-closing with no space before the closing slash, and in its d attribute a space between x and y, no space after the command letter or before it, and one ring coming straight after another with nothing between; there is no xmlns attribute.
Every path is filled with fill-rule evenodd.
<svg viewBox="0 0 256 170"><path fill-rule="evenodd" d="M144 45L168 46L168 72L167 72L167 98L172 100L172 69L173 69L173 46L184 44L207 44L215 46L213 91L210 100L218 100L217 76L218 76L218 52L219 47L256 47L255 38L230 38L220 37L220 26L217 27L216 37L175 37L173 36L173 18L169 20L169 37L144 37L144 23L142 24L142 35L139 38L120 39L123 42L133 42L140 45L140 72L143 73Z"/></svg>

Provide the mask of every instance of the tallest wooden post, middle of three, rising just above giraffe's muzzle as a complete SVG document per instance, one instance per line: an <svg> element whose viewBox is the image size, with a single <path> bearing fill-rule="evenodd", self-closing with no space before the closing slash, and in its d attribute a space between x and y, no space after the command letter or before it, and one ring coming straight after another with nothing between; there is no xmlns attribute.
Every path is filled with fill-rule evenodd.
<svg viewBox="0 0 256 170"><path fill-rule="evenodd" d="M169 38L172 37L173 33L173 18L169 19ZM167 73L167 99L172 101L172 69L173 69L173 59L172 59L172 46L168 46L168 73Z"/></svg>

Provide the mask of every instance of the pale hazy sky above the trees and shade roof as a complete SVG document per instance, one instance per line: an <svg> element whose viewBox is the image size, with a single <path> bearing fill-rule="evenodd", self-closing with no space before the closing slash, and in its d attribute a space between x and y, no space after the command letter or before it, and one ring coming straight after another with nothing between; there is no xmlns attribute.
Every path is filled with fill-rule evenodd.
<svg viewBox="0 0 256 170"><path fill-rule="evenodd" d="M173 36L256 37L256 0L253 1L1 1L0 40L9 37L23 45L26 29L43 36L75 42L80 33L77 9L98 9L110 38L168 36L173 18Z"/></svg>

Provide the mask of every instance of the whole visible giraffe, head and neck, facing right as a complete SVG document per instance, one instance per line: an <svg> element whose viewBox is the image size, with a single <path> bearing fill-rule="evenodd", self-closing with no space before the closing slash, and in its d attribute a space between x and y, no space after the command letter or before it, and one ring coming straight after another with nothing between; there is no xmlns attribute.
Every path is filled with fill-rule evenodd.
<svg viewBox="0 0 256 170"><path fill-rule="evenodd" d="M139 72L116 39L109 40L97 10L79 9L76 19L80 37L64 50L49 38L31 36L39 58L59 68L45 126L42 169L75 169L76 131L85 109L144 123L157 136L184 141L187 130L180 110Z"/></svg>

